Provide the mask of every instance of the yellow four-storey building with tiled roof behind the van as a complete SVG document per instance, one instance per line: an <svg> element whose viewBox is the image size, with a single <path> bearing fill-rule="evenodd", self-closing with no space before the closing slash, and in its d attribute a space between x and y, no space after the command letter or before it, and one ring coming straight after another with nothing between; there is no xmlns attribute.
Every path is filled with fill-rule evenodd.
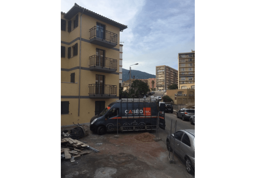
<svg viewBox="0 0 256 178"><path fill-rule="evenodd" d="M75 5L61 12L61 126L89 123L119 98L126 25Z"/></svg>

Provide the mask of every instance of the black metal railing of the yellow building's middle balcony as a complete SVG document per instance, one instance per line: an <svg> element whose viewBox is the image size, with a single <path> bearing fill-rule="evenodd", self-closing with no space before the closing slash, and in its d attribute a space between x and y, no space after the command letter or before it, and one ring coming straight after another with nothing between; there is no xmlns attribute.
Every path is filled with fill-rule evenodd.
<svg viewBox="0 0 256 178"><path fill-rule="evenodd" d="M117 70L117 60L108 57L101 57L99 55L92 55L89 57L89 66L102 66L109 69Z"/></svg>

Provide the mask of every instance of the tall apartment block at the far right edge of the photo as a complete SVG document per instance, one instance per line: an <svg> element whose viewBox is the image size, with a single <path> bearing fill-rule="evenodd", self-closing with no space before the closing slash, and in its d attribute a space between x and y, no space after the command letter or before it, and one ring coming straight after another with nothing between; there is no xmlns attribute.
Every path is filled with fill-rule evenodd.
<svg viewBox="0 0 256 178"><path fill-rule="evenodd" d="M178 53L179 89L195 89L195 51Z"/></svg>

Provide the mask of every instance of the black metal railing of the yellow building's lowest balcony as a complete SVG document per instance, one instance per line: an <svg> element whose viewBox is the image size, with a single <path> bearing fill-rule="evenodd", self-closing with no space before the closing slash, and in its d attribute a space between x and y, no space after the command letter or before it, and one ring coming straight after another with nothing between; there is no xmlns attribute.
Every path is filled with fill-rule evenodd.
<svg viewBox="0 0 256 178"><path fill-rule="evenodd" d="M116 85L89 84L89 95L116 95Z"/></svg>

